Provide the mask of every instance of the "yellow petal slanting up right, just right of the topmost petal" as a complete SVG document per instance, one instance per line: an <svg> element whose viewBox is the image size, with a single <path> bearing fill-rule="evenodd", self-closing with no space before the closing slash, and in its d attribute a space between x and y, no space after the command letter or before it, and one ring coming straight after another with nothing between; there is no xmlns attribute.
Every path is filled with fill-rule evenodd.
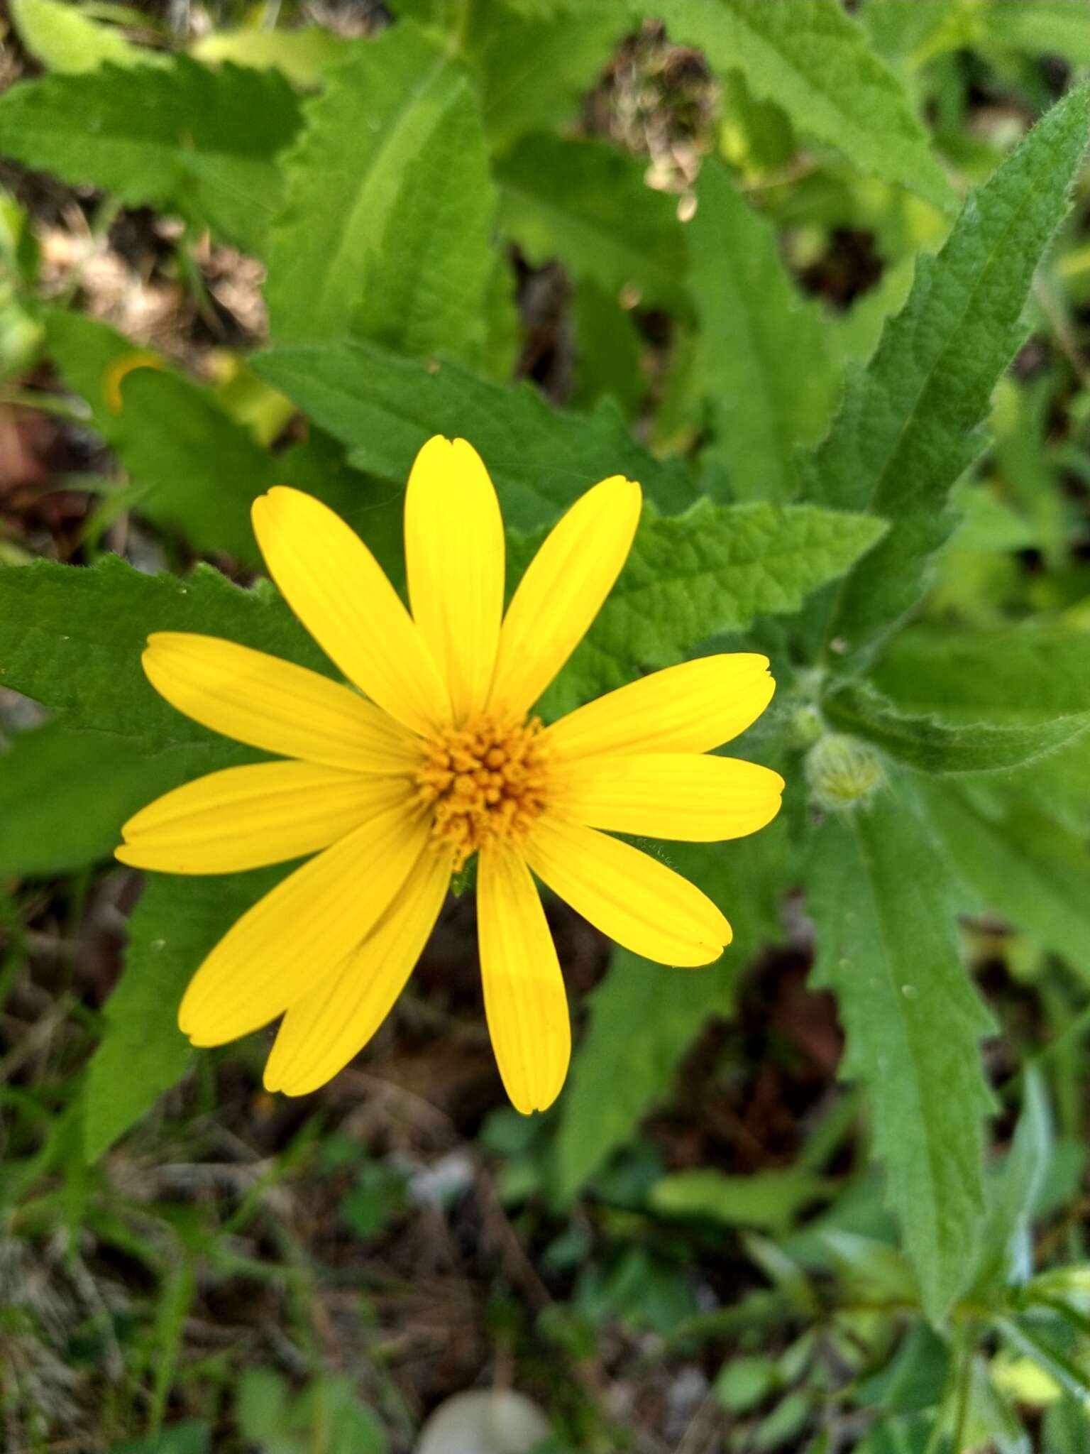
<svg viewBox="0 0 1090 1454"><path fill-rule="evenodd" d="M542 541L500 631L490 708L522 717L560 672L599 614L639 523L639 486L622 475L596 484Z"/></svg>

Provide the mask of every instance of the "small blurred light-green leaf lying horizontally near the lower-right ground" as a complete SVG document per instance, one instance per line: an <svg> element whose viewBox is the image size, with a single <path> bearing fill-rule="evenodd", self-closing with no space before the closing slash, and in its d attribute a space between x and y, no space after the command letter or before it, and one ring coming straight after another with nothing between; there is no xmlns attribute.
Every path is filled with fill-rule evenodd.
<svg viewBox="0 0 1090 1454"><path fill-rule="evenodd" d="M828 1195L830 1182L814 1172L782 1170L728 1176L714 1166L663 1176L651 1188L654 1211L670 1217L708 1217L728 1227L786 1232L798 1214Z"/></svg>

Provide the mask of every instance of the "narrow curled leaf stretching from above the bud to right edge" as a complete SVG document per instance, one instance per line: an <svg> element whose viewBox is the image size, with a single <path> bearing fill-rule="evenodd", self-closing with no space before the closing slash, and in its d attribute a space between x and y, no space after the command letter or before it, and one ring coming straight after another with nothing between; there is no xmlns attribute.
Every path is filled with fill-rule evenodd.
<svg viewBox="0 0 1090 1454"><path fill-rule="evenodd" d="M849 683L821 701L827 721L865 737L917 772L997 772L1017 768L1073 742L1090 726L1090 711L1026 726L949 723L907 717L866 685Z"/></svg>

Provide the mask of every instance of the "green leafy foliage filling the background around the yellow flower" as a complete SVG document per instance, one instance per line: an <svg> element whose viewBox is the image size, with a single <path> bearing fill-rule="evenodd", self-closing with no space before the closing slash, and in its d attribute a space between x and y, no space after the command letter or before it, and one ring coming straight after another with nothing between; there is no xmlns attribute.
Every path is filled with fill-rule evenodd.
<svg viewBox="0 0 1090 1454"><path fill-rule="evenodd" d="M128 883L121 822L247 760L154 696L144 637L331 672L250 583L250 502L318 494L398 579L400 491L436 432L481 451L517 564L599 477L644 486L546 715L763 650L779 692L744 750L788 779L766 833L669 849L731 917L724 960L616 951L557 1109L477 1111L439 1191L321 1099L230 1185L208 1175L234 1136L217 1086L253 1099L257 1050L195 1057L174 1011L283 869L148 883L103 1011L68 965L33 1025L0 1019L13 1454L83 1416L94 1370L112 1454L407 1448L389 1346L331 1367L315 1323L340 1278L376 1329L382 1280L334 1275L283 1208L305 1186L368 1249L471 1185L507 1237L490 1332L557 1451L642 1437L602 1397L616 1328L645 1362L712 1368L693 1425L737 1454L1090 1447L1084 0L391 0L366 35L291 6L225 4L193 36L97 3L10 12L39 74L0 95L0 156L80 201L89 246L121 209L173 220L156 266L205 327L206 249L260 259L267 329L186 368L57 279L32 188L0 198L0 410L110 452L61 481L86 503L67 551L15 512L0 534L0 1011L44 906L67 964L89 894ZM789 1154L719 1165L686 1054L811 941L852 1089ZM702 1085L751 1088L751 1051L719 1045ZM199 1192L148 1165L203 1166ZM238 1280L282 1298L279 1368L190 1346Z"/></svg>

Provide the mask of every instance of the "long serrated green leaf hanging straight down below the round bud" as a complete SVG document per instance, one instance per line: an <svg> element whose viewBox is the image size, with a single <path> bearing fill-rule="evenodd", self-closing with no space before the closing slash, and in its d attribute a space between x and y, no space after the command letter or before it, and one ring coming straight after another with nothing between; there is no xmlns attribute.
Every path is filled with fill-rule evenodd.
<svg viewBox="0 0 1090 1454"><path fill-rule="evenodd" d="M991 1018L961 964L945 859L904 791L828 813L814 833L807 909L814 983L847 1035L843 1075L868 1093L888 1197L940 1319L968 1274L984 1214L978 1041Z"/></svg>

